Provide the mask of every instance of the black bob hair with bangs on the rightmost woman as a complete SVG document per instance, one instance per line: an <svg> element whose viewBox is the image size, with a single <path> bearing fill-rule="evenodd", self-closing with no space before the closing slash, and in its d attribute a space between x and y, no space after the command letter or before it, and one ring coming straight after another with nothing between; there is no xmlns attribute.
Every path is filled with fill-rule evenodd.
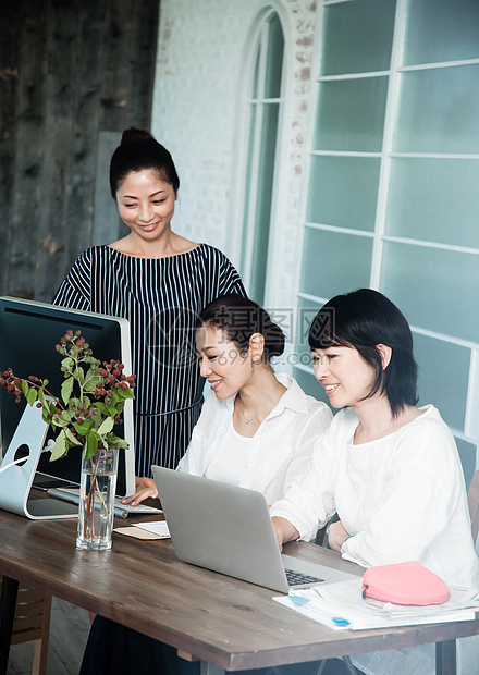
<svg viewBox="0 0 479 675"><path fill-rule="evenodd" d="M392 349L385 369L378 344ZM368 397L378 391L384 393L394 417L406 404L416 405L417 365L413 355L413 334L404 315L382 293L359 289L333 297L311 323L309 346L311 349L333 346L357 349L376 373Z"/></svg>

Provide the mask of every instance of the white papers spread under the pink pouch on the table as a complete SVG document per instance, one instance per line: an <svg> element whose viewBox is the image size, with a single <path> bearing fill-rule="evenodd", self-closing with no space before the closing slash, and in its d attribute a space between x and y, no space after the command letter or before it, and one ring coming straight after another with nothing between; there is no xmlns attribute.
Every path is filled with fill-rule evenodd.
<svg viewBox="0 0 479 675"><path fill-rule="evenodd" d="M453 587L446 602L414 606L363 599L361 584L358 578L318 585L273 600L335 630L474 621L479 613L479 591Z"/></svg>

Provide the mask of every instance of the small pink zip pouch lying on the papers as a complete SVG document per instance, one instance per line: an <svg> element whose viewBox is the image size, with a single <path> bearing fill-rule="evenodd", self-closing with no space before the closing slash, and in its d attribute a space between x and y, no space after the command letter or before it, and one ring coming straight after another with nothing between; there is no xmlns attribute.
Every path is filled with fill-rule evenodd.
<svg viewBox="0 0 479 675"><path fill-rule="evenodd" d="M417 561L378 565L363 576L363 598L394 604L441 604L450 597L449 588L433 572Z"/></svg>

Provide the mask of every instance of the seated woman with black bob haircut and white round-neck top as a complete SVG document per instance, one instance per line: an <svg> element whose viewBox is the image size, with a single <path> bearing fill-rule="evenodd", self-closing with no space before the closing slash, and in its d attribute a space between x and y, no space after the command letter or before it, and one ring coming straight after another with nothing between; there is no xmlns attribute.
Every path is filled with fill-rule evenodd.
<svg viewBox="0 0 479 675"><path fill-rule="evenodd" d="M417 368L404 316L361 289L322 307L309 344L316 378L342 410L308 469L271 508L280 547L308 539L337 512L328 540L343 557L363 567L416 560L447 585L477 589L460 461L438 410L415 407ZM479 673L477 647L476 638L458 641L464 675ZM352 661L369 675L428 675L434 646Z"/></svg>

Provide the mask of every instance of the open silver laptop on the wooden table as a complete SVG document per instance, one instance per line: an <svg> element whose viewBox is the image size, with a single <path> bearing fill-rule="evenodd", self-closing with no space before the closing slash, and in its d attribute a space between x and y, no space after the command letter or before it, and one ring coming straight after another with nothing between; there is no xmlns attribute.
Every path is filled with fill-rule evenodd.
<svg viewBox="0 0 479 675"><path fill-rule="evenodd" d="M181 561L283 593L292 587L357 578L282 555L260 492L159 466L152 466L152 471Z"/></svg>

